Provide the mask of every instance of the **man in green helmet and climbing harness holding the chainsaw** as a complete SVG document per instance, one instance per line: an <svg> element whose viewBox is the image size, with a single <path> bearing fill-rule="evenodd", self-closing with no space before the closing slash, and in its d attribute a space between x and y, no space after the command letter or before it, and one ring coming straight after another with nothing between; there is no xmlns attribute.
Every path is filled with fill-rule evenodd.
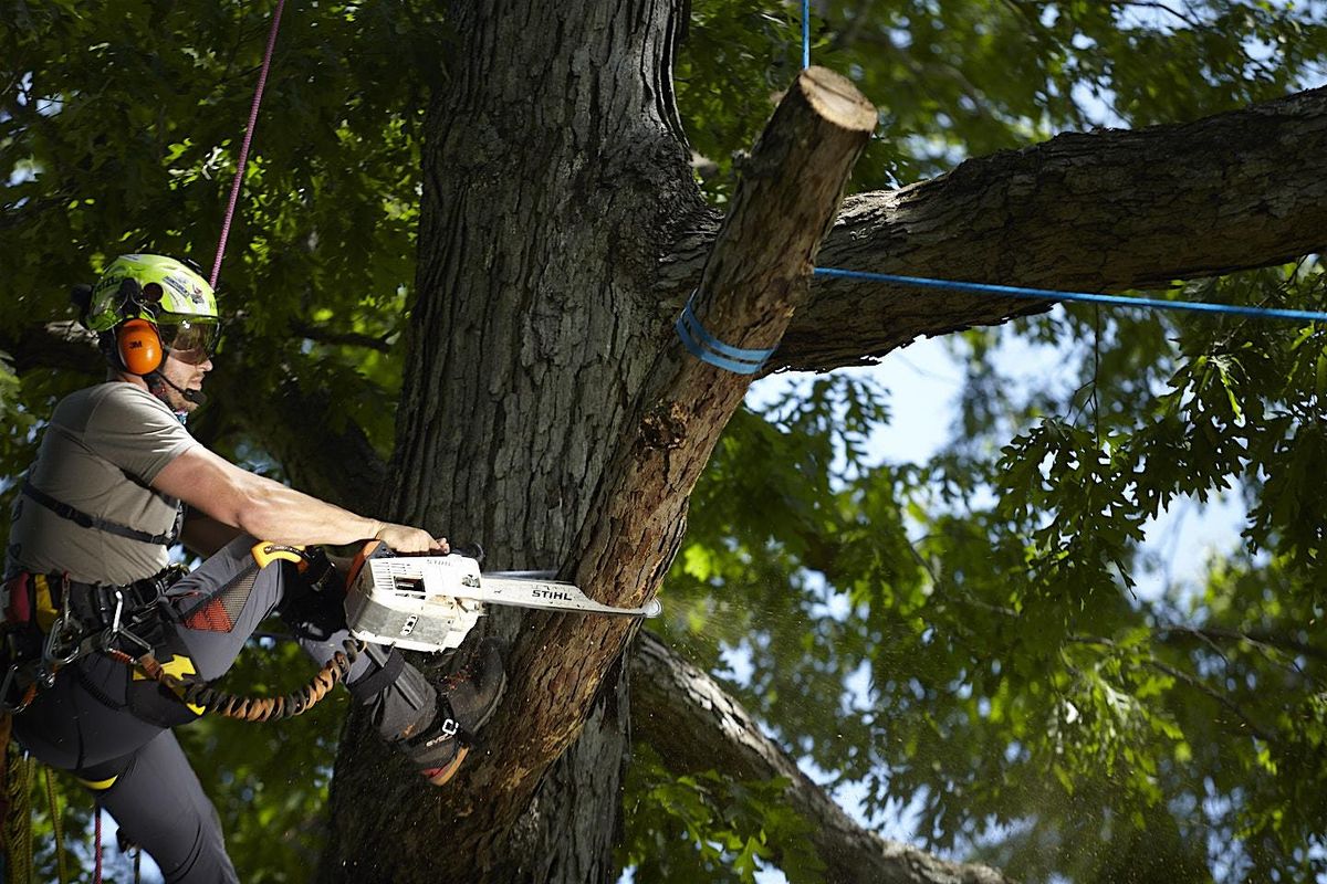
<svg viewBox="0 0 1327 884"><path fill-rule="evenodd" d="M235 881L215 810L170 730L203 709L125 665L125 655L150 651L171 675L214 680L277 611L326 663L349 637L344 578L366 554L446 554L449 545L249 473L188 433L219 337L212 289L190 266L123 256L82 306L110 375L56 407L17 498L7 620L36 622L52 637L15 734L96 793L166 880ZM208 557L192 574L169 563L176 537ZM295 554L362 538L374 541L348 575L321 551ZM13 673L31 667L11 657ZM492 714L504 675L492 639L442 693L398 651L370 645L346 685L382 738L441 786Z"/></svg>

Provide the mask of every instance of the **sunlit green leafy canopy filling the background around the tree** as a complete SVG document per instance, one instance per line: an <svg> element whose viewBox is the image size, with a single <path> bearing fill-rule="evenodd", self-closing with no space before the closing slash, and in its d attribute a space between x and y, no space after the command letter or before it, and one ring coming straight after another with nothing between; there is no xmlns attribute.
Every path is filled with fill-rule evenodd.
<svg viewBox="0 0 1327 884"><path fill-rule="evenodd" d="M800 64L798 5L691 7L678 99L721 208ZM207 265L268 15L0 3L0 341L68 318L68 286L121 252ZM881 102L853 182L874 190L1320 83L1324 20L1316 0L856 0L815 4L812 54ZM218 451L291 472L275 452L303 416L263 407L283 384L334 390L337 416L390 451L422 111L449 45L418 0L288 11L220 286L216 402L194 425ZM1173 294L1327 309L1312 256ZM1058 347L1078 383L1009 383L998 354L1015 339ZM1327 876L1323 333L1058 307L950 346L961 417L929 463L868 448L889 394L859 372L734 420L666 586L666 640L827 782L864 791L869 819L909 807L918 842L1016 879ZM16 371L5 349L8 500L41 416L96 375ZM1147 520L1225 489L1247 504L1242 546L1197 583L1137 594ZM303 667L255 647L235 677ZM182 732L244 880L304 880L340 712ZM84 826L86 798L64 789ZM638 881L751 880L808 824L770 785L678 782L645 746L625 806ZM796 852L782 871L816 879Z"/></svg>

